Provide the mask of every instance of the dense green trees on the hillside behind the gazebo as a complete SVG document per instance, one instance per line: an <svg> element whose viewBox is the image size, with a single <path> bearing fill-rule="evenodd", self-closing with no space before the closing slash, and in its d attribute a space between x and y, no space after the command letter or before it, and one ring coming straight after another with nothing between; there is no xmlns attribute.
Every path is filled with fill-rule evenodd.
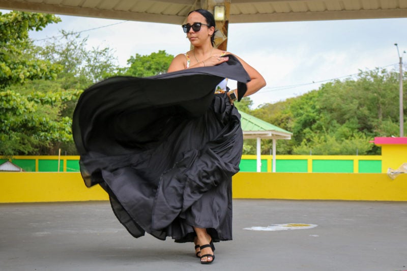
<svg viewBox="0 0 407 271"><path fill-rule="evenodd" d="M356 79L329 82L250 113L293 132L292 140L278 141L277 154L380 154L369 141L398 135L398 77L385 69L361 71ZM271 140L262 141L261 152L270 149Z"/></svg>

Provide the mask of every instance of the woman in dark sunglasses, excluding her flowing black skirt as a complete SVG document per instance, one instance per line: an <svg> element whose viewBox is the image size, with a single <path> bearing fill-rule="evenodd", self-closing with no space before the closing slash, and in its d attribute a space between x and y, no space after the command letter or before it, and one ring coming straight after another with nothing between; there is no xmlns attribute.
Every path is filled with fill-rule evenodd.
<svg viewBox="0 0 407 271"><path fill-rule="evenodd" d="M187 33L187 38L193 45L193 49L186 54L177 55L168 68L168 72L179 71L183 69L210 67L219 65L229 60L229 52L224 52L213 47L215 34L215 19L213 15L207 11L198 9L188 14L187 23L183 25L184 32ZM247 83L247 91L244 96L249 96L257 92L261 87L266 85L266 81L254 68L237 57L244 69L250 76L250 82ZM225 80L227 81L227 79ZM219 91L219 89L221 89ZM232 104L238 97L236 90L226 92L224 84L217 87L215 93L221 94L225 92ZM230 97L232 95L232 98ZM235 98L236 97L236 98ZM196 237L194 238L195 252L200 256L202 263L210 263L214 260L214 246L208 246L212 237L208 234L205 228L194 227Z"/></svg>

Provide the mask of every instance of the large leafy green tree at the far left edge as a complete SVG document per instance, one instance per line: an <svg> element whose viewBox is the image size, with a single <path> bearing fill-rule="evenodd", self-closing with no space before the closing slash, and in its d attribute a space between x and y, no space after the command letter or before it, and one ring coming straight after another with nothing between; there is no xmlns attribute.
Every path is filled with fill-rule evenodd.
<svg viewBox="0 0 407 271"><path fill-rule="evenodd" d="M28 31L60 19L50 14L0 14L0 154L55 154L72 142L71 112L81 93L61 87L61 63L39 54ZM42 49L42 48L41 48ZM52 80L51 80L52 79Z"/></svg>

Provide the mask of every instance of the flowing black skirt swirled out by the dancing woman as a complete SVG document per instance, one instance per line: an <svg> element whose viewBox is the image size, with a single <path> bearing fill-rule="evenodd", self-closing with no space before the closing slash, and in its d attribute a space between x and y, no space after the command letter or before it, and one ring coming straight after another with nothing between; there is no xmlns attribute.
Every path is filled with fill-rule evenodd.
<svg viewBox="0 0 407 271"><path fill-rule="evenodd" d="M236 107L214 94L224 78L243 97L249 76L232 55L215 67L112 77L80 96L72 132L85 185L106 190L134 237L190 242L200 227L214 242L232 238L243 134Z"/></svg>

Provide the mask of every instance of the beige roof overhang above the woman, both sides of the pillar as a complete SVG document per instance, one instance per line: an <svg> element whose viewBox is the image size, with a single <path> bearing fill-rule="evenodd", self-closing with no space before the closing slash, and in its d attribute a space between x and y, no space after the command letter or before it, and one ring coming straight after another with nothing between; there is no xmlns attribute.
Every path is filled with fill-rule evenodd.
<svg viewBox="0 0 407 271"><path fill-rule="evenodd" d="M182 24L199 5L196 0L0 0L0 9L172 24ZM402 17L407 0L231 0L229 23Z"/></svg>

